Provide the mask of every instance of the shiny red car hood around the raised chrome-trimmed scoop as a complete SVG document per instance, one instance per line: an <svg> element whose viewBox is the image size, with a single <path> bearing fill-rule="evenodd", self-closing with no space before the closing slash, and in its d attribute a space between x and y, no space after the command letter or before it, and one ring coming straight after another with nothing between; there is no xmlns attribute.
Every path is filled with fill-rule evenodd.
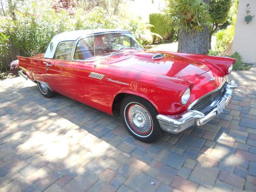
<svg viewBox="0 0 256 192"><path fill-rule="evenodd" d="M211 69L200 61L175 54L163 54L163 57L152 59L157 54L161 53L129 52L106 58L101 63L183 80L193 79Z"/></svg>

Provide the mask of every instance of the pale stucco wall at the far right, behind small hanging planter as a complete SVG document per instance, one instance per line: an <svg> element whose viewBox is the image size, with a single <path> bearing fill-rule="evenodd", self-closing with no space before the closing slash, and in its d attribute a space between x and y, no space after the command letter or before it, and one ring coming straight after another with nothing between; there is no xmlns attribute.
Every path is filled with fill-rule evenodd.
<svg viewBox="0 0 256 192"><path fill-rule="evenodd" d="M246 5L250 4L250 15L255 15L247 24L244 17ZM256 0L239 0L236 30L232 52L239 52L244 62L256 62Z"/></svg>

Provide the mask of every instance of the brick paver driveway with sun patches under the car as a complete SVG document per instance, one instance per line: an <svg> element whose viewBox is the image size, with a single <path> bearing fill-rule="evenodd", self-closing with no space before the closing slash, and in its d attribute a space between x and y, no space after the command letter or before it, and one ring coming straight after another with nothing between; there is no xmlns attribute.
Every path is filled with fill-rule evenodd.
<svg viewBox="0 0 256 192"><path fill-rule="evenodd" d="M256 191L254 67L224 114L154 144L18 77L0 82L0 191Z"/></svg>

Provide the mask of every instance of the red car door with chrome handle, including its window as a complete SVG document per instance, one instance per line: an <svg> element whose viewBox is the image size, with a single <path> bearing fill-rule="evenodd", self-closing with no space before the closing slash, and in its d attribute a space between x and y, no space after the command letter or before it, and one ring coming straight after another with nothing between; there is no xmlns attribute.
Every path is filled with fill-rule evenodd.
<svg viewBox="0 0 256 192"><path fill-rule="evenodd" d="M77 99L76 62L72 61L74 45L74 41L59 43L54 58L46 61L46 76L53 91Z"/></svg>

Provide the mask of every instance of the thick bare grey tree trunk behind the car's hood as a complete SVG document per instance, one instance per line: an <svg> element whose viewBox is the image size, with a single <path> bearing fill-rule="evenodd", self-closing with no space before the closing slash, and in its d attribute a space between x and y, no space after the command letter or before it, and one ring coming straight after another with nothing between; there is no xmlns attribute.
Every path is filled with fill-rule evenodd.
<svg viewBox="0 0 256 192"><path fill-rule="evenodd" d="M204 26L202 31L194 33L181 28L178 34L178 52L196 54L206 54L208 52L208 27Z"/></svg>

